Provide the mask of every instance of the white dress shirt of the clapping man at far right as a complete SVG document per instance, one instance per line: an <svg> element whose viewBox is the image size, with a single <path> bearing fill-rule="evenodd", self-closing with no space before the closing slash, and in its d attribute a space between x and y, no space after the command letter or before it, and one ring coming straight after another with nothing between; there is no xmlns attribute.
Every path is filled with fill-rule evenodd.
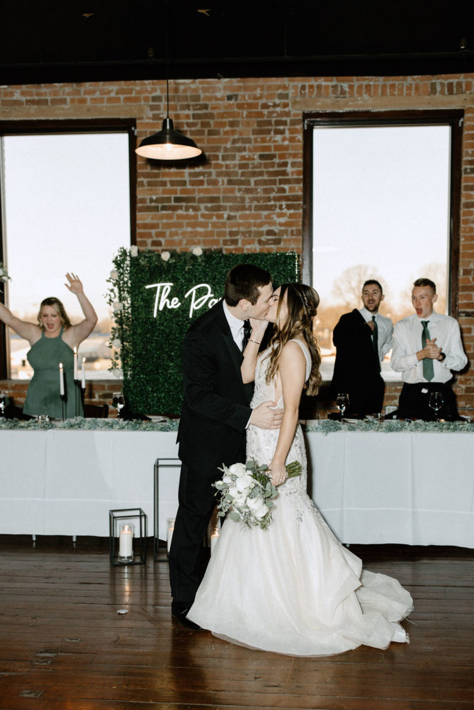
<svg viewBox="0 0 474 710"><path fill-rule="evenodd" d="M423 376L423 360L416 353L423 349L421 321L429 321L430 339L436 338L436 345L446 355L441 362L431 360L434 377L431 382L448 382L451 380L451 370L458 372L463 369L468 359L460 339L458 321L451 316L433 311L426 318L419 318L416 313L400 320L394 329L394 347L390 364L395 372L402 373L402 380L410 384L426 382Z"/></svg>

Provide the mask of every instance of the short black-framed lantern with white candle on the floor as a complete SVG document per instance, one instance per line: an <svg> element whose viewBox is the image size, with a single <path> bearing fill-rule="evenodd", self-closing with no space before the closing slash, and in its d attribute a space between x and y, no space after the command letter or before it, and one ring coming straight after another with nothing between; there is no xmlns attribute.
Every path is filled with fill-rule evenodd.
<svg viewBox="0 0 474 710"><path fill-rule="evenodd" d="M141 508L109 510L109 555L114 567L146 564L146 513Z"/></svg>

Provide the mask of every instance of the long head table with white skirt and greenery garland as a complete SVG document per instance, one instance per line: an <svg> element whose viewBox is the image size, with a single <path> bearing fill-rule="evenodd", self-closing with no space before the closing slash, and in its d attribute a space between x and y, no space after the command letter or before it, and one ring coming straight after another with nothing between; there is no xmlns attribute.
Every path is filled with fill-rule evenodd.
<svg viewBox="0 0 474 710"><path fill-rule="evenodd" d="M177 458L177 426L4 420L0 533L107 536L120 508L142 508L152 530L153 466ZM324 420L306 443L308 492L341 542L474 547L473 425ZM162 539L178 476L161 466Z"/></svg>

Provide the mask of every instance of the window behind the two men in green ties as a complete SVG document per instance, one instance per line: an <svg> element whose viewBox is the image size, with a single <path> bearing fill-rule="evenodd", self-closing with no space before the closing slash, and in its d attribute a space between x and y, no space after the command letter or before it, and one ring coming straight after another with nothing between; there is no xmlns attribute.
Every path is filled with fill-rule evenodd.
<svg viewBox="0 0 474 710"><path fill-rule="evenodd" d="M379 280L380 311L411 315L411 286L438 287L437 310L456 302L462 111L305 116L304 278L321 297L316 334L323 378L333 373L333 328ZM399 376L382 364L382 376Z"/></svg>

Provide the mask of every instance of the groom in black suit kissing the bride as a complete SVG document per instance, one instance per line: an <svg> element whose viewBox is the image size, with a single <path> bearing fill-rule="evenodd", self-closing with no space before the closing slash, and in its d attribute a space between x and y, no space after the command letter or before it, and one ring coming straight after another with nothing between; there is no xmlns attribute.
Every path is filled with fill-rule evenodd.
<svg viewBox="0 0 474 710"><path fill-rule="evenodd" d="M268 271L238 264L227 275L224 300L191 324L183 342L181 476L169 567L171 614L188 628L198 628L186 614L200 584L200 552L215 507L218 469L245 461L250 423L277 429L283 417L283 410L271 409L274 402L249 407L253 383L244 385L240 373L244 320L264 320L272 293Z"/></svg>

